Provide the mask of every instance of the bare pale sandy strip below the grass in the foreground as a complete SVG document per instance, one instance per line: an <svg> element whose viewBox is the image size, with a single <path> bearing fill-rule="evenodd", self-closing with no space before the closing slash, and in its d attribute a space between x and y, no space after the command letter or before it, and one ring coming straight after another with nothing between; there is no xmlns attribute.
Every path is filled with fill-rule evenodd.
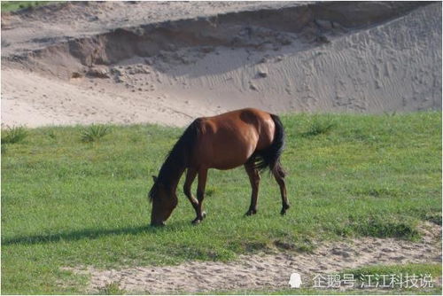
<svg viewBox="0 0 443 296"><path fill-rule="evenodd" d="M361 238L319 243L314 253L241 255L237 261L228 263L190 261L165 267L66 270L90 275L87 292L98 292L113 283L130 293L272 291L289 288L293 272L301 275L301 287L312 288L316 275L332 275L344 269L377 264L441 263L441 226L426 223L421 229L424 237L416 243L394 238ZM435 278L434 284L441 286L441 278Z"/></svg>

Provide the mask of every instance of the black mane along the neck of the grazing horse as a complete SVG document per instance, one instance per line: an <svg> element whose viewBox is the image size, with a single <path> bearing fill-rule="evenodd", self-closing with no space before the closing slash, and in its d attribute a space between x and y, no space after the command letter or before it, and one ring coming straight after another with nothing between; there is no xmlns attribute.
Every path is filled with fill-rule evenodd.
<svg viewBox="0 0 443 296"><path fill-rule="evenodd" d="M152 185L151 191L149 191L149 198L152 201L157 194L159 183L165 188L170 188L172 183L176 180L177 174L181 175L184 168L190 165L190 152L192 152L194 144L198 139L199 120L192 121L190 126L184 130L183 135L180 136L177 143L167 153L165 162L160 168L159 176ZM180 177L178 176L178 178Z"/></svg>

